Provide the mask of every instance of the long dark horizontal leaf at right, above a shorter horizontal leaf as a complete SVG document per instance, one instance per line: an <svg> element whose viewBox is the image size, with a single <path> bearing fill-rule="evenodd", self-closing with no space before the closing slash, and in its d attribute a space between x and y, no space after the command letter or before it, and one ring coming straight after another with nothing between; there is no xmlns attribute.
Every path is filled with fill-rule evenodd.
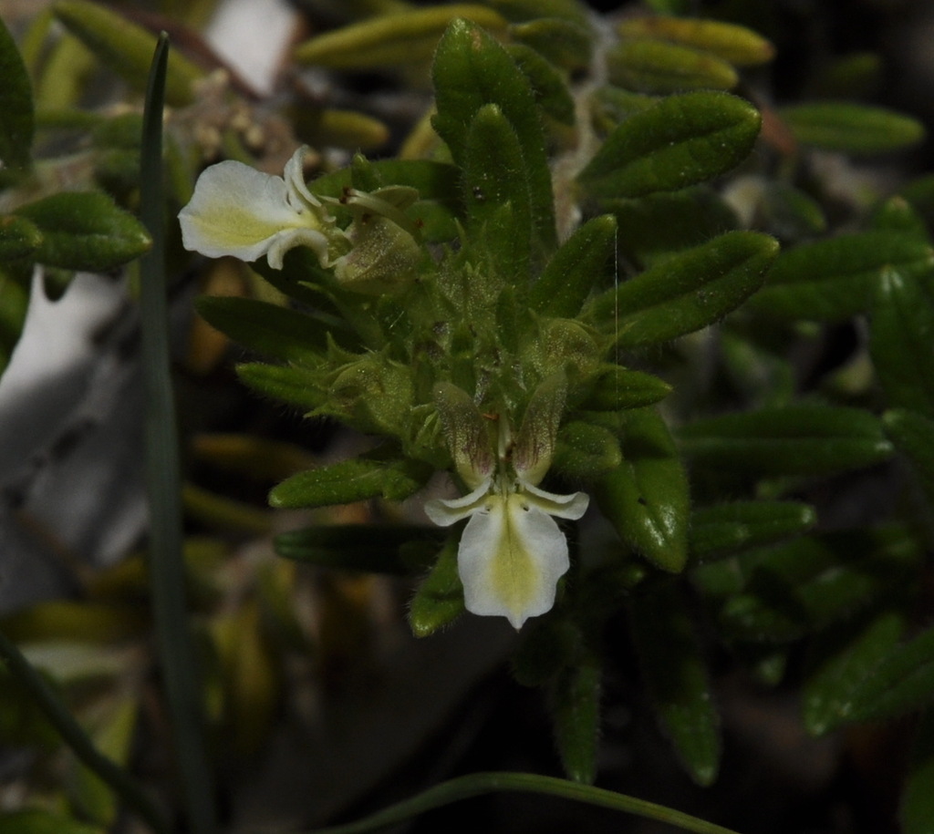
<svg viewBox="0 0 934 834"><path fill-rule="evenodd" d="M881 463L892 453L869 411L795 405L709 417L679 429L696 466L759 477L829 475Z"/></svg>

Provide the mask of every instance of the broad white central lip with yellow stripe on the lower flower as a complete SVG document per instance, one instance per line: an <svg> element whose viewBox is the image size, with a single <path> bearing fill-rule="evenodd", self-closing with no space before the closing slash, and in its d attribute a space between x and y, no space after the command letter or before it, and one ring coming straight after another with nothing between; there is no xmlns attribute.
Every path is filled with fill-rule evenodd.
<svg viewBox="0 0 934 834"><path fill-rule="evenodd" d="M568 543L550 515L509 493L490 496L460 538L458 572L468 611L502 616L518 629L555 604Z"/></svg>

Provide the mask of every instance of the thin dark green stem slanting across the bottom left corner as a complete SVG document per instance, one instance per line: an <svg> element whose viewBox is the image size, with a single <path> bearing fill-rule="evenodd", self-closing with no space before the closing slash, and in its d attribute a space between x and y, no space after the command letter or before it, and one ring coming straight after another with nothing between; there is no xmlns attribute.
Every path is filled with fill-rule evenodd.
<svg viewBox="0 0 934 834"><path fill-rule="evenodd" d="M149 823L157 834L171 834L163 814L155 806L143 788L127 772L101 753L88 734L81 729L75 716L68 711L62 700L55 693L45 678L26 660L20 649L0 632L0 659L7 664L7 669L25 687L33 697L35 705L49 719L49 723L74 754L94 773L96 773L127 805Z"/></svg>

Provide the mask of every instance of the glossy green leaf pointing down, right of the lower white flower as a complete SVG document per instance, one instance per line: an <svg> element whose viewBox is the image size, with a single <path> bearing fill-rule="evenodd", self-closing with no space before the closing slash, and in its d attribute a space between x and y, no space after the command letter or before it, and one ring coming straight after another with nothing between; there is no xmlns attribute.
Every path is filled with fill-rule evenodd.
<svg viewBox="0 0 934 834"><path fill-rule="evenodd" d="M623 465L594 490L601 512L626 544L678 573L687 561L690 499L681 458L656 410L624 412L622 452Z"/></svg>

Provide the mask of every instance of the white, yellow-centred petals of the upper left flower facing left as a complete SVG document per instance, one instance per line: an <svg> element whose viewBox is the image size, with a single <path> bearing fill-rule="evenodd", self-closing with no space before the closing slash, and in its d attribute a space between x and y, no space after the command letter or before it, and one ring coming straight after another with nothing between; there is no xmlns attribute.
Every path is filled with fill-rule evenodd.
<svg viewBox="0 0 934 834"><path fill-rule="evenodd" d="M325 267L334 256L344 255L344 232L304 183L305 152L304 146L295 151L285 178L234 160L207 168L195 183L191 202L178 213L185 248L241 260L265 255L276 270L293 246L308 246Z"/></svg>

